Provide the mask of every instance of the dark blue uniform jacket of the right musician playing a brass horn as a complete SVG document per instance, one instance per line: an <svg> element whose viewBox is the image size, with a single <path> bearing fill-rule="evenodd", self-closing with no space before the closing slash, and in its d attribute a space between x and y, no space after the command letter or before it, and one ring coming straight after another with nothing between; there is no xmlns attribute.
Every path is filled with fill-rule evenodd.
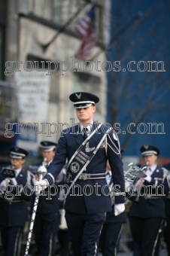
<svg viewBox="0 0 170 256"><path fill-rule="evenodd" d="M126 193L126 196L129 198L129 200L132 200L132 206L129 212L129 216L135 216L139 218L165 218L165 203L163 201L163 197L161 196L162 191L163 194L166 194L166 191L162 187L162 180L159 180L159 178L163 178L164 173L161 168L158 166L150 176L152 179L150 182L144 181L144 186L154 185L157 186L157 192L156 189L152 188L152 197L150 198L147 194L150 194L149 188L147 188L146 191L144 189L141 189L141 194L145 194L144 196L131 196ZM161 186L159 186L161 185ZM159 187L158 187L159 186ZM139 194L139 193L138 193ZM159 194L159 196L154 196L155 194ZM137 200L138 198L138 200Z"/></svg>

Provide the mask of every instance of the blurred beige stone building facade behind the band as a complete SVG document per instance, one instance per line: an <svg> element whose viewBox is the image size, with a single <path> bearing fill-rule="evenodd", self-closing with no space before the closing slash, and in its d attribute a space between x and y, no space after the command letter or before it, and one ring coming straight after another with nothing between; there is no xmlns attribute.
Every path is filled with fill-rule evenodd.
<svg viewBox="0 0 170 256"><path fill-rule="evenodd" d="M77 122L68 99L74 91L96 93L100 98L96 120L105 122L106 72L96 70L93 56L109 41L110 0L96 4L96 46L88 58L91 63L74 58L81 43L74 27L91 5L85 0L9 0L4 5L5 48L1 53L5 54L1 65L5 75L1 80L14 87L14 93L10 100L13 114L1 127L2 137L6 132L2 154L7 154L11 145L7 130L14 131L13 145L32 155L37 154L41 140L57 141L67 126L62 123L71 126ZM105 62L105 51L98 59L100 65ZM21 125L5 128L5 123L14 122Z"/></svg>

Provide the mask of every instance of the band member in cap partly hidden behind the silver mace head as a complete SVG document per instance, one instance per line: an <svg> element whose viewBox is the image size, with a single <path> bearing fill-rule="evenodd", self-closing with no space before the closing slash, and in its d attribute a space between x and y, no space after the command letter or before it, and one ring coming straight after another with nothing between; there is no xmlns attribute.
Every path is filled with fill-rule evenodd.
<svg viewBox="0 0 170 256"><path fill-rule="evenodd" d="M43 141L40 144L41 154L46 160L47 168L53 161L56 152L56 143ZM31 169L38 169L38 166L41 166L41 163L35 163L30 167ZM60 180L58 181L62 181L62 175L60 175L59 178ZM55 184L57 186L59 183L55 182ZM54 252L56 230L58 229L60 221L59 193L56 193L54 187L51 187L50 190L44 190L44 194L45 195L39 197L33 232L35 234L38 255L51 256Z"/></svg>

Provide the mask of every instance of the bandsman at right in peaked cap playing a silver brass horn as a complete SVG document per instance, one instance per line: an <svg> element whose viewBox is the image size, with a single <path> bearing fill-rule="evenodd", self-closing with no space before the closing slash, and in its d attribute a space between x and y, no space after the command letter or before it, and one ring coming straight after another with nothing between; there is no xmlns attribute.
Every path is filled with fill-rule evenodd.
<svg viewBox="0 0 170 256"><path fill-rule="evenodd" d="M141 147L141 155L147 164L147 170L144 177L139 178L135 184L136 195L127 194L129 200L133 201L129 220L134 256L156 256L159 254L159 246L156 244L165 220L165 204L162 199L162 194L165 193L162 185L165 173L156 164L158 148L144 145Z"/></svg>

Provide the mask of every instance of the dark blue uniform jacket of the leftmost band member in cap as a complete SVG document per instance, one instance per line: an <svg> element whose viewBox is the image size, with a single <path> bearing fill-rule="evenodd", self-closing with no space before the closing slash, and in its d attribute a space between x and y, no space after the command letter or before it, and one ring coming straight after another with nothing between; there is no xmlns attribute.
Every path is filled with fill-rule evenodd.
<svg viewBox="0 0 170 256"><path fill-rule="evenodd" d="M19 189L17 191L16 187L13 187L11 193L2 194L0 198L0 224L6 227L14 226L24 226L25 221L28 218L28 209L26 201L31 201L33 194L33 175L31 172L20 171L17 175L17 185L22 185L23 190ZM0 175L0 182L5 178ZM31 189L26 187L26 185L31 185ZM9 190L10 191L10 190ZM20 194L20 196L16 196ZM13 199L11 199L14 196ZM5 199L5 197L7 199Z"/></svg>

